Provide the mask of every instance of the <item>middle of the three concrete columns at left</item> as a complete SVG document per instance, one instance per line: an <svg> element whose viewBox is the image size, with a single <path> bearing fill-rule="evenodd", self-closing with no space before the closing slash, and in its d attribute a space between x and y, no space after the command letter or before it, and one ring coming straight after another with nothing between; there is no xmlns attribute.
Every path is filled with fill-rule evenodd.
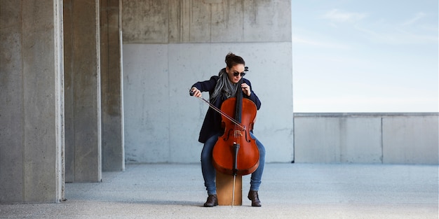
<svg viewBox="0 0 439 219"><path fill-rule="evenodd" d="M66 181L99 182L99 0L64 0L64 38Z"/></svg>

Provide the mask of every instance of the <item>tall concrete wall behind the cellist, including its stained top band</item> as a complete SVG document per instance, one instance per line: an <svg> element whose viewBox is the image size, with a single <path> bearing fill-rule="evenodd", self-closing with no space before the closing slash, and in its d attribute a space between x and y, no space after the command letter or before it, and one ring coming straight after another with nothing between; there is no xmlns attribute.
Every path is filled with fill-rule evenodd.
<svg viewBox="0 0 439 219"><path fill-rule="evenodd" d="M255 135L266 161L291 162L290 6L288 0L123 1L126 161L199 162L207 106L189 97L189 87L217 75L234 52L245 59L245 77L262 101Z"/></svg>

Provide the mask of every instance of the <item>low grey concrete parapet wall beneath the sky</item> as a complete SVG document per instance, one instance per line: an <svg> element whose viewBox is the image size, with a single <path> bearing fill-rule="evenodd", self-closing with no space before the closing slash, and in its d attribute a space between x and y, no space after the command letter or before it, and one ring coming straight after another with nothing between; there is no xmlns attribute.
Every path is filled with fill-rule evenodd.
<svg viewBox="0 0 439 219"><path fill-rule="evenodd" d="M295 162L438 164L438 113L295 113Z"/></svg>

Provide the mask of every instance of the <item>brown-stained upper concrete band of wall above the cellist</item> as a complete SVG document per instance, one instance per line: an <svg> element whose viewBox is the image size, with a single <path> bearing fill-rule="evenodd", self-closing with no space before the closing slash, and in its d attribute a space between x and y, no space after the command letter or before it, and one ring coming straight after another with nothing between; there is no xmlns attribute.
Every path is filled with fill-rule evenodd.
<svg viewBox="0 0 439 219"><path fill-rule="evenodd" d="M291 41L289 0L122 1L125 43Z"/></svg>

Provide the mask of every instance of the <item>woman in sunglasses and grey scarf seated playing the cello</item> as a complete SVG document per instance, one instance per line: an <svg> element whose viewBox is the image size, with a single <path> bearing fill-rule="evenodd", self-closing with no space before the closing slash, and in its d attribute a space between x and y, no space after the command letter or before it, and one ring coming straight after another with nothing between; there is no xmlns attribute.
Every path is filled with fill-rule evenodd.
<svg viewBox="0 0 439 219"><path fill-rule="evenodd" d="M229 52L225 61L226 67L219 71L219 76L212 76L210 80L195 83L191 87L191 94L195 97L201 97L201 92L209 92L210 103L217 108L221 108L222 102L229 97L234 97L236 91L240 89L243 92L243 98L253 101L259 110L261 102L255 92L253 92L250 80L243 78L241 87L238 87L237 84L245 75L247 69L244 59ZM203 172L204 185L208 191L208 199L204 204L205 207L218 205L215 185L216 171L212 164L212 150L218 140L218 136L222 136L224 132L221 120L221 115L212 108L209 108L198 138L198 141L204 143L203 150L201 151L201 170ZM252 133L250 135L256 139ZM264 171L265 148L257 139L256 144L259 149L259 167L252 173L248 199L252 201L252 206L261 206L257 191L259 190L259 185L261 185L262 172Z"/></svg>

